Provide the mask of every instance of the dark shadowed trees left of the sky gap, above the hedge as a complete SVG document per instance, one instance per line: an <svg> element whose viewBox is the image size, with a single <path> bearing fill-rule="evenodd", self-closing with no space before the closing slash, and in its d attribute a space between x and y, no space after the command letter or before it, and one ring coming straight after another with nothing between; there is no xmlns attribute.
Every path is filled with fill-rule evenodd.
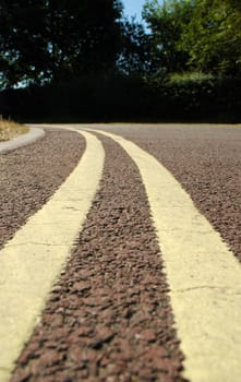
<svg viewBox="0 0 241 382"><path fill-rule="evenodd" d="M61 82L115 67L119 0L0 1L0 77L5 85Z"/></svg>

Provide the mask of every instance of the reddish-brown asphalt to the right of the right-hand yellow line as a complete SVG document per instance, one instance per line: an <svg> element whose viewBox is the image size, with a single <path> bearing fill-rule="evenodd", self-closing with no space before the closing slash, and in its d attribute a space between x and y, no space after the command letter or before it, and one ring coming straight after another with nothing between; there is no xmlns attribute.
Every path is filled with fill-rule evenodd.
<svg viewBox="0 0 241 382"><path fill-rule="evenodd" d="M241 261L241 128L115 129L172 172Z"/></svg>

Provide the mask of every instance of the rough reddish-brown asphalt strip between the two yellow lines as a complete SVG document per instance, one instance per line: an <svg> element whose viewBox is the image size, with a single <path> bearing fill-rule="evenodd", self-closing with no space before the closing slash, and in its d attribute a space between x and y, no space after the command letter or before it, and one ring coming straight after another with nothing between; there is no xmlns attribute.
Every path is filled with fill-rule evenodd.
<svg viewBox="0 0 241 382"><path fill-rule="evenodd" d="M101 188L12 382L183 381L138 171L101 140Z"/></svg>

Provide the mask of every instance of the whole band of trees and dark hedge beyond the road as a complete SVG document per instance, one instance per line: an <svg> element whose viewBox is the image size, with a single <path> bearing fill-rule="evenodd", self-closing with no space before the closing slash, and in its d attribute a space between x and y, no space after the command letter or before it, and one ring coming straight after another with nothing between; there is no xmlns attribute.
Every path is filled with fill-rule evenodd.
<svg viewBox="0 0 241 382"><path fill-rule="evenodd" d="M24 121L241 121L240 0L5 0L0 114ZM22 88L20 88L22 87Z"/></svg>

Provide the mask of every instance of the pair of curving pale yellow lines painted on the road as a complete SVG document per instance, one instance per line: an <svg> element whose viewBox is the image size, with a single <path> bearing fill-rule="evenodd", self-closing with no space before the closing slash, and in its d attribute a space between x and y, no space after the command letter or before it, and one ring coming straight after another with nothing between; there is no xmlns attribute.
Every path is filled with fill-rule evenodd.
<svg viewBox="0 0 241 382"><path fill-rule="evenodd" d="M173 176L134 143L104 131L140 169L170 285L178 336L192 382L241 380L241 267ZM0 381L7 381L65 263L98 189L101 143L86 151L52 199L0 252ZM120 164L121 165L121 164Z"/></svg>

